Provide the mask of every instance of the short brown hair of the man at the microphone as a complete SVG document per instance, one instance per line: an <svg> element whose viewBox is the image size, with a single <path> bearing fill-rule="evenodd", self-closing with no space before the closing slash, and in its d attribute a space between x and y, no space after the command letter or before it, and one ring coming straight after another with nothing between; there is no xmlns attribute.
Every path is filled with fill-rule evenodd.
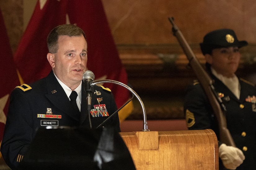
<svg viewBox="0 0 256 170"><path fill-rule="evenodd" d="M47 37L47 47L49 53L57 53L59 36L81 36L86 40L83 30L72 24L59 25L52 29Z"/></svg>

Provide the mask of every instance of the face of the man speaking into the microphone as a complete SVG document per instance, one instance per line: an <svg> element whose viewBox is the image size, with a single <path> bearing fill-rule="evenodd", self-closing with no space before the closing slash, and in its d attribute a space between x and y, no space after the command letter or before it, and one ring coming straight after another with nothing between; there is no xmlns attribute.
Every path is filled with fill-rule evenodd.
<svg viewBox="0 0 256 170"><path fill-rule="evenodd" d="M58 51L53 54L51 64L56 76L68 87L75 87L80 84L86 65L87 42L84 37L60 36Z"/></svg>

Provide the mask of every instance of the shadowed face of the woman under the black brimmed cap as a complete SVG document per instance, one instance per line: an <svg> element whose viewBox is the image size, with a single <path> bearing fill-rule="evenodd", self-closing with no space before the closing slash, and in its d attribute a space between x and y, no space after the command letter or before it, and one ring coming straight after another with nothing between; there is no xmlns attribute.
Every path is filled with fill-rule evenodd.
<svg viewBox="0 0 256 170"><path fill-rule="evenodd" d="M239 66L240 56L238 47L228 47L213 49L212 55L207 54L205 57L218 74L233 77Z"/></svg>

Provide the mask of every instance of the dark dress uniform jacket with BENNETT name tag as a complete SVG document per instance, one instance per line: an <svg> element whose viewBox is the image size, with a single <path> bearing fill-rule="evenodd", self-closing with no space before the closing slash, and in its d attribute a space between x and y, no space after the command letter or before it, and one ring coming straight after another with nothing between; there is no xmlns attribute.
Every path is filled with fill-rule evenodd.
<svg viewBox="0 0 256 170"><path fill-rule="evenodd" d="M86 93L83 88L84 83L82 84L80 117L75 116L68 96L52 71L46 78L29 86L20 86L12 91L1 144L2 156L10 168L17 168L38 127L51 125L90 128ZM97 98L102 101L98 102ZM91 108L94 109L94 105L97 104L105 104L109 116L117 110L114 96L110 90L94 86ZM90 116L93 129L108 118L108 116ZM120 132L118 114L111 117L103 126L114 127Z"/></svg>

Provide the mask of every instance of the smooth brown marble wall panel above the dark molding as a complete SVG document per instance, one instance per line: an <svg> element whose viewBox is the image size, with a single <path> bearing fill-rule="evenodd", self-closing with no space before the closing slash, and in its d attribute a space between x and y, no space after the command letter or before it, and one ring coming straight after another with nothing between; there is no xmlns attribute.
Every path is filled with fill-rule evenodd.
<svg viewBox="0 0 256 170"><path fill-rule="evenodd" d="M117 45L175 44L168 17L173 16L189 44L214 29L231 28L239 39L255 43L253 0L102 0Z"/></svg>

